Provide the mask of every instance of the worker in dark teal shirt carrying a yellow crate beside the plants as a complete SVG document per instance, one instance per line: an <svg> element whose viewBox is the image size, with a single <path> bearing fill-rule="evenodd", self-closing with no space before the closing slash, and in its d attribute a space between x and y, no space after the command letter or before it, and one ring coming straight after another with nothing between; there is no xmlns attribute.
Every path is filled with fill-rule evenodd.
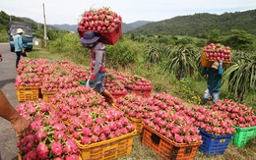
<svg viewBox="0 0 256 160"><path fill-rule="evenodd" d="M203 68L202 75L208 75L207 89L203 96L204 103L206 103L210 98L214 103L218 102L221 93L222 78L224 75L223 61L220 60L219 62L214 62L211 68Z"/></svg>

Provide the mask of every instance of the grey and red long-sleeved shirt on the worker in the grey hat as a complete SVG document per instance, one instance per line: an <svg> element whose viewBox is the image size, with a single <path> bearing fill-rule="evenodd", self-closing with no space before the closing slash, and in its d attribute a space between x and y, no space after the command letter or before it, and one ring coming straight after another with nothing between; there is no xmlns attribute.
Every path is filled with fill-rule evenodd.
<svg viewBox="0 0 256 160"><path fill-rule="evenodd" d="M105 71L105 45L101 42L91 50L91 69L93 79L99 71Z"/></svg>

